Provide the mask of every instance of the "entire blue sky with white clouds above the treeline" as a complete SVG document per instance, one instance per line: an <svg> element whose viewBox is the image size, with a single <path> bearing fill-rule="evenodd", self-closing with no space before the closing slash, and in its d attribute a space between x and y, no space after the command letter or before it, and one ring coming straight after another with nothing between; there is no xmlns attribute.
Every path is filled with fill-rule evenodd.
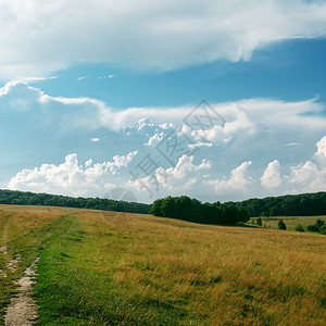
<svg viewBox="0 0 326 326"><path fill-rule="evenodd" d="M2 189L326 190L325 1L2 0L0 28Z"/></svg>

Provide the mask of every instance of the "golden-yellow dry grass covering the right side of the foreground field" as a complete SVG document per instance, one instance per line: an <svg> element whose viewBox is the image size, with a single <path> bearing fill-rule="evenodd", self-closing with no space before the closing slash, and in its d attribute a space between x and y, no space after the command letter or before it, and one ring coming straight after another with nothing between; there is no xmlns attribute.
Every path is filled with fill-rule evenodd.
<svg viewBox="0 0 326 326"><path fill-rule="evenodd" d="M146 215L112 225L114 213L102 216L83 216L99 241L91 253L96 268L114 271L113 279L138 296L187 298L193 315L211 325L325 322L323 236ZM126 240L115 243L116 234ZM108 258L113 265L105 264Z"/></svg>

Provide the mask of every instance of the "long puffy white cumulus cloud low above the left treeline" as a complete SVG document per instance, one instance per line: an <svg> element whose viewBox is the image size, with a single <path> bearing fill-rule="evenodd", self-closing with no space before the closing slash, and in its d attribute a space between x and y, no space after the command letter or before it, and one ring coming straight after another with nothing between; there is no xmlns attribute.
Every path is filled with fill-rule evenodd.
<svg viewBox="0 0 326 326"><path fill-rule="evenodd" d="M112 188L114 174L126 167L137 151L115 155L113 162L95 163L88 160L79 164L77 154L68 154L62 164L42 164L34 170L18 172L8 184L9 189L37 192L85 196Z"/></svg>

